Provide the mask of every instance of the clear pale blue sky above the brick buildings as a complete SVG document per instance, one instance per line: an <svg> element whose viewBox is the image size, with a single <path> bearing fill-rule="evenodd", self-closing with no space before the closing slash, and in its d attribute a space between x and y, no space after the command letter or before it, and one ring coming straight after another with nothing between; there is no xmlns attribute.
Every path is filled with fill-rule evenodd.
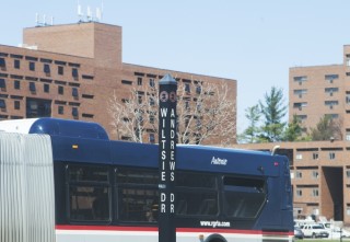
<svg viewBox="0 0 350 242"><path fill-rule="evenodd" d="M288 104L289 68L342 62L349 0L0 0L0 45L19 46L38 20L79 21L78 5L122 27L122 61L237 80L237 132L245 110L272 87Z"/></svg>

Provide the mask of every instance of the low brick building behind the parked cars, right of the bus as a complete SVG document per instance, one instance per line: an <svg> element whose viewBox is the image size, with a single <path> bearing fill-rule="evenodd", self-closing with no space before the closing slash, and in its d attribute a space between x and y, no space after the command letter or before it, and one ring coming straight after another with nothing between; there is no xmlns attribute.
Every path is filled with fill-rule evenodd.
<svg viewBox="0 0 350 242"><path fill-rule="evenodd" d="M287 154L293 188L294 218L314 215L350 224L350 143L345 141L247 143L244 149Z"/></svg>

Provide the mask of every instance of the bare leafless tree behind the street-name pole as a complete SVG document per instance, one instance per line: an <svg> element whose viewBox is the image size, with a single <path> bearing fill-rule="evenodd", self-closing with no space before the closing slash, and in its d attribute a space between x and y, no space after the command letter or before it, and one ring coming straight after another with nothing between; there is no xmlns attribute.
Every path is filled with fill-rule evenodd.
<svg viewBox="0 0 350 242"><path fill-rule="evenodd" d="M158 134L158 85L132 89L120 102L114 95L108 100L108 113L117 138L128 137L144 142L147 132ZM228 84L200 81L179 83L177 88L178 143L229 146L236 141L236 105Z"/></svg>

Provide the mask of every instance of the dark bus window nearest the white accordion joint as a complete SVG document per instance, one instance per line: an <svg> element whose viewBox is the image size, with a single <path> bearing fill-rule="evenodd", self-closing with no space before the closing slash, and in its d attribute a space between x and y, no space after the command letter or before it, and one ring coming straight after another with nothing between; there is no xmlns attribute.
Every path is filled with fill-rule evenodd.
<svg viewBox="0 0 350 242"><path fill-rule="evenodd" d="M110 188L107 168L68 166L69 219L110 221Z"/></svg>

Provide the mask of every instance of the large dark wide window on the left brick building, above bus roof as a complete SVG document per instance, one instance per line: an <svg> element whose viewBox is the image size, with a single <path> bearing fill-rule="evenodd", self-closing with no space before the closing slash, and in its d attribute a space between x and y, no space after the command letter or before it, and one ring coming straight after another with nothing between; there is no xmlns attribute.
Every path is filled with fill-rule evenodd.
<svg viewBox="0 0 350 242"><path fill-rule="evenodd" d="M51 100L26 99L26 117L50 117Z"/></svg>

